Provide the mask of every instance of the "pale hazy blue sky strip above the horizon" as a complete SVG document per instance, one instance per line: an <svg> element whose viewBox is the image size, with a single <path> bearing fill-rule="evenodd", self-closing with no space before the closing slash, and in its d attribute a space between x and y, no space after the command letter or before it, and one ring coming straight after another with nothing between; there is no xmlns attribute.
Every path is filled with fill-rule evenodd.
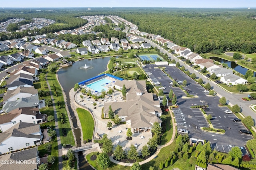
<svg viewBox="0 0 256 170"><path fill-rule="evenodd" d="M256 0L5 0L0 7L256 8Z"/></svg>

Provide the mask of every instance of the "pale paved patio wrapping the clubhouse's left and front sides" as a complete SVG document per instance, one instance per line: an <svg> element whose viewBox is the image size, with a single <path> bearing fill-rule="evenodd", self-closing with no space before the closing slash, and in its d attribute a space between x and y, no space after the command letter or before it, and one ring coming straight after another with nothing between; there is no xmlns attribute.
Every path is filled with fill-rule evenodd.
<svg viewBox="0 0 256 170"><path fill-rule="evenodd" d="M94 139L100 139L100 137L103 136L103 134L107 134L108 138L110 138L113 142L114 149L117 145L121 145L124 150L128 150L131 145L136 145L137 151L140 153L140 150L142 146L146 145L148 140L152 137L151 132L144 132L144 130L140 130L140 132L133 133L132 134L132 140L127 140L126 132L127 128L130 128L129 125L126 124L120 124L120 125L114 125L114 122L112 122L112 129L108 130L107 123L110 121L110 119L102 119L101 113L102 109L104 107L104 103L107 102L125 102L122 99L122 93L120 91L115 90L111 95L106 95L104 99L98 99L98 101L95 101L92 97L89 97L87 95L83 95L84 98L81 99L80 95L83 95L81 92L77 93L75 95L75 100L82 106L89 108L92 111L92 114L95 118L95 131L94 131ZM93 103L97 103L95 106L96 109L94 109ZM84 108L86 109L86 108ZM98 135L99 136L98 136Z"/></svg>

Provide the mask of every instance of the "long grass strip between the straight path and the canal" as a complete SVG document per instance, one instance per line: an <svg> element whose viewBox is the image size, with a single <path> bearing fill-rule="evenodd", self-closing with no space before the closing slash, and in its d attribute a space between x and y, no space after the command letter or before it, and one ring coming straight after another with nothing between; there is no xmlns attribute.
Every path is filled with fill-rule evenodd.
<svg viewBox="0 0 256 170"><path fill-rule="evenodd" d="M50 88L53 89L53 85L55 85L56 88L56 92L57 92L57 97L55 95L53 95L54 101L57 104L57 101L60 101L60 106L61 108L59 109L58 106L56 105L56 111L57 111L57 115L58 115L58 128L60 130L60 140L62 144L71 144L74 146L75 141L74 141L74 136L72 134L72 129L70 127L70 123L69 123L69 119L68 119L68 113L66 111L66 107L65 107L65 102L64 102L64 98L63 98L63 94L62 94L62 89L60 87L59 82L56 79L56 74L55 73L48 73L47 74L47 79L48 82L50 84ZM52 91L52 93L54 94L54 92ZM64 115L64 122L65 123L61 123L60 121L60 116L59 114L63 113ZM63 136L63 132L62 132L62 128L66 129L67 135Z"/></svg>

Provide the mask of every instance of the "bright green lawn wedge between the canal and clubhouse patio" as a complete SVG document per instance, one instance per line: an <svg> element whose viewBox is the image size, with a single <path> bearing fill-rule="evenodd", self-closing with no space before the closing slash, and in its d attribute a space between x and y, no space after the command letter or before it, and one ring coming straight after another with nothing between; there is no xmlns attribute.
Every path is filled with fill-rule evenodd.
<svg viewBox="0 0 256 170"><path fill-rule="evenodd" d="M92 115L81 108L76 109L81 126L83 131L83 140L92 139L93 130L94 130L94 121L92 119Z"/></svg>

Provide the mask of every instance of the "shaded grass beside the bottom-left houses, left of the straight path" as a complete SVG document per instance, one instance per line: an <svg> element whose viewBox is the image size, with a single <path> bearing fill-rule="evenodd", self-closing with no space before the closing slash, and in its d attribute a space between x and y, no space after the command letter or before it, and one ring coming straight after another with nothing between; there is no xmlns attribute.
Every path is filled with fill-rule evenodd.
<svg viewBox="0 0 256 170"><path fill-rule="evenodd" d="M44 154L49 154L55 157L54 164L50 166L50 170L57 170L58 169L58 142L57 138L55 137L54 140L50 142L52 144L52 150L51 152L48 152L47 150L44 149L45 144L41 144L38 146L38 151L39 151L39 156L43 157Z"/></svg>

